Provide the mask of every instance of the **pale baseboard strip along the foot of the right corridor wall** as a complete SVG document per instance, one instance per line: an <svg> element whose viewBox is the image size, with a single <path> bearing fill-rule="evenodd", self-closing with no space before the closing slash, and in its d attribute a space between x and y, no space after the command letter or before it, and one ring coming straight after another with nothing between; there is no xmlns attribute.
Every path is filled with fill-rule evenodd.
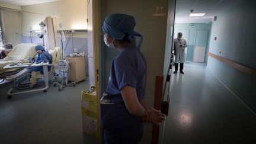
<svg viewBox="0 0 256 144"><path fill-rule="evenodd" d="M223 81L215 72L213 72L212 70L210 70L209 68L206 68L207 71L209 71L213 76L215 76L215 78L224 85L224 87L226 87L229 91L232 92L233 95L235 95L236 98L238 98L239 101L241 101L242 104L245 105L245 107L247 107L254 115L256 115L256 108L254 107L254 105L252 105L251 103L249 103L245 97L243 97L241 94L239 94L238 91L236 91L235 89L233 89L228 83L226 83L225 81Z"/></svg>

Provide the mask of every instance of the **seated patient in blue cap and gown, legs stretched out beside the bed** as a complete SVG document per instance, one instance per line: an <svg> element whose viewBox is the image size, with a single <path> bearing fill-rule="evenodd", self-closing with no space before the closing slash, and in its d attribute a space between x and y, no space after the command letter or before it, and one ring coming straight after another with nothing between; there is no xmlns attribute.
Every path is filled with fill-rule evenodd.
<svg viewBox="0 0 256 144"><path fill-rule="evenodd" d="M35 47L35 50L37 53L37 59L35 61L36 63L44 62L44 60L47 60L47 61L49 61L49 63L52 63L52 56L49 54L49 52L44 50L43 46L37 45ZM32 59L30 59L30 61L31 60ZM48 70L50 71L50 68L48 68ZM33 72L33 71L40 71L41 73L43 73L43 66L27 67L15 75L7 76L5 79L8 81L14 81L15 79L19 78L20 76L23 76L26 73Z"/></svg>

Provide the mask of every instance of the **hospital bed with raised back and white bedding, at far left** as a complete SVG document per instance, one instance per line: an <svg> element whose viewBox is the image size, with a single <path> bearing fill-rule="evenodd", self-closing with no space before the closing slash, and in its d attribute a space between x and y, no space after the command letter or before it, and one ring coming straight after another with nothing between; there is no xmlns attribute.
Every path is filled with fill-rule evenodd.
<svg viewBox="0 0 256 144"><path fill-rule="evenodd" d="M35 44L21 43L13 47L8 56L4 59L0 59L0 79L5 79L6 76L14 75L20 72L23 68L3 69L4 66L14 65L17 63L28 63L29 57L35 57L36 52L34 50Z"/></svg>

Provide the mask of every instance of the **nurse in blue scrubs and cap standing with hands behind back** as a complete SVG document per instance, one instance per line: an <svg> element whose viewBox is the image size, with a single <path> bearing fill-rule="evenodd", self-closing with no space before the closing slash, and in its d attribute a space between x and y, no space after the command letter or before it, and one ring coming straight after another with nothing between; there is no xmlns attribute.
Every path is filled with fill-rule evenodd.
<svg viewBox="0 0 256 144"><path fill-rule="evenodd" d="M143 121L160 124L161 111L146 108L146 59L140 52L142 36L134 31L135 19L126 14L108 15L103 24L104 42L119 50L111 65L108 87L101 98L101 122L106 144L138 143ZM139 44L135 46L135 36Z"/></svg>

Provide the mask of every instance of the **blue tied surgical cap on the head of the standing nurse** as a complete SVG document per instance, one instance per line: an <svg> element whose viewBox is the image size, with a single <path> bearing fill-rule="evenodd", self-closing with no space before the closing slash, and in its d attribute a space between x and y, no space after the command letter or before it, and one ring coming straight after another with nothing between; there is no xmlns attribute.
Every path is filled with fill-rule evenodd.
<svg viewBox="0 0 256 144"><path fill-rule="evenodd" d="M140 37L137 47L140 48L143 37L141 34L134 31L136 22L135 18L126 14L111 14L108 15L103 23L103 30L116 40L123 40L124 36L128 36L128 40L135 41L135 36Z"/></svg>

